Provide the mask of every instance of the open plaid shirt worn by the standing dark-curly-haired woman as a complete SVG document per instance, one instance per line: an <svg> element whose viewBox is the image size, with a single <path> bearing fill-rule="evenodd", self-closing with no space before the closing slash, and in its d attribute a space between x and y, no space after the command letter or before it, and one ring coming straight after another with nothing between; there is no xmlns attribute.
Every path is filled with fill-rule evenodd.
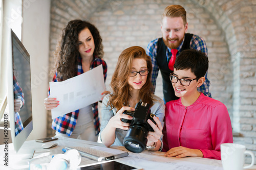
<svg viewBox="0 0 256 170"><path fill-rule="evenodd" d="M104 80L106 80L106 70L107 65L106 62L102 59L99 59L97 57L94 58L90 69L97 67L98 65L102 64L103 67L103 74L104 74ZM82 59L79 57L79 63L77 65L77 75L80 75L83 73L82 70ZM53 82L60 82L62 79L57 78L57 71L53 77ZM49 93L50 95L50 88ZM99 115L98 115L98 102L92 104L92 110L93 110L93 122L94 122L94 128L95 128L95 135L98 135L100 132L100 124L99 124ZM52 129L56 130L60 133L65 133L68 136L70 136L76 126L77 118L78 118L79 110L73 111L71 113L65 114L63 116L59 116L57 118L53 119L52 122Z"/></svg>

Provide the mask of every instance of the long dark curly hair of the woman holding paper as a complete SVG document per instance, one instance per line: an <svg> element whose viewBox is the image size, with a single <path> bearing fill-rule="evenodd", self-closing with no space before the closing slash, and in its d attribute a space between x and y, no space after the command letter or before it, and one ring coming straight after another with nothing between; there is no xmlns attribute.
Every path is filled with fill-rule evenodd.
<svg viewBox="0 0 256 170"><path fill-rule="evenodd" d="M80 19L71 20L62 30L60 39L58 40L55 56L55 68L53 71L58 72L58 78L67 80L77 75L77 64L79 62L79 46L77 44L78 34L88 28L93 36L95 50L93 55L102 58L104 55L102 39L98 29L90 22Z"/></svg>

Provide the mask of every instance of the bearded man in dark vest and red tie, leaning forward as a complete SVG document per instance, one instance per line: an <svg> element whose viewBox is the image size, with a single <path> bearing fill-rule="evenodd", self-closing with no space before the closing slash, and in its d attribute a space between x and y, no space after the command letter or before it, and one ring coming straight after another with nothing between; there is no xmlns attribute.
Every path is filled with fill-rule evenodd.
<svg viewBox="0 0 256 170"><path fill-rule="evenodd" d="M186 11L180 5L169 5L164 9L161 21L162 38L151 41L146 53L151 57L153 72L153 92L156 88L156 79L160 69L163 79L164 101L179 99L175 93L169 75L173 73L173 65L179 53L185 49L193 48L201 51L207 56L207 47L203 38L187 32ZM205 82L198 87L198 91L211 97L209 92L210 82L205 74Z"/></svg>

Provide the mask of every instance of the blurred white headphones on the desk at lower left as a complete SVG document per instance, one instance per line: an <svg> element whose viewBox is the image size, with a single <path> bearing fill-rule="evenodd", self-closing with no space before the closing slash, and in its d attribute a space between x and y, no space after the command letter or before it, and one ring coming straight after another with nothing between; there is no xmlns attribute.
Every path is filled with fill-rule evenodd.
<svg viewBox="0 0 256 170"><path fill-rule="evenodd" d="M77 150L68 150L65 154L50 155L31 160L29 169L76 169L80 162L80 153Z"/></svg>

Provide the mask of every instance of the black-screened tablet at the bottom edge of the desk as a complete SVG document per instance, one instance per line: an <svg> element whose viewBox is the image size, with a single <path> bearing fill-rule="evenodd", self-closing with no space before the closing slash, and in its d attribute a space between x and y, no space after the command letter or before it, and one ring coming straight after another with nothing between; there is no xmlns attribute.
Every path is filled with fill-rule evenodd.
<svg viewBox="0 0 256 170"><path fill-rule="evenodd" d="M80 170L91 170L91 169L96 169L96 170L129 170L129 169L138 170L138 169L143 169L143 168L137 167L134 165L124 164L124 163L118 162L116 160L97 162L97 163L93 163L93 164L83 165L80 167Z"/></svg>

